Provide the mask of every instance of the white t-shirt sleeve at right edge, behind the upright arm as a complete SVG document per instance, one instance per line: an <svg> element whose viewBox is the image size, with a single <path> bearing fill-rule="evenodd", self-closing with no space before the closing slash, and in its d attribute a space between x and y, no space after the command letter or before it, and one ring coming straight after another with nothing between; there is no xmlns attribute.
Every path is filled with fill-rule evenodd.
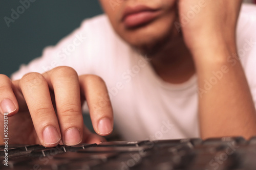
<svg viewBox="0 0 256 170"><path fill-rule="evenodd" d="M256 6L243 4L238 22L238 55L256 108ZM231 61L231 60L230 60ZM236 60L232 60L236 64ZM243 100L243 99L241 99Z"/></svg>

